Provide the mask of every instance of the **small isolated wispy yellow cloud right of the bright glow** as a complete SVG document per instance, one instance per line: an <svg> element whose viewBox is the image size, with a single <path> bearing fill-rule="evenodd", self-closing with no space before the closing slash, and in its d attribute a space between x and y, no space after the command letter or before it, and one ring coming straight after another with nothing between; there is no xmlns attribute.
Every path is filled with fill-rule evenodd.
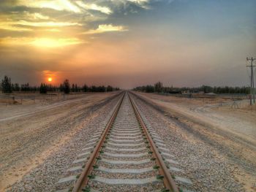
<svg viewBox="0 0 256 192"><path fill-rule="evenodd" d="M91 29L89 31L84 32L83 34L101 34L105 32L113 32L113 31L128 31L124 26L113 26L109 25L99 25L97 29Z"/></svg>

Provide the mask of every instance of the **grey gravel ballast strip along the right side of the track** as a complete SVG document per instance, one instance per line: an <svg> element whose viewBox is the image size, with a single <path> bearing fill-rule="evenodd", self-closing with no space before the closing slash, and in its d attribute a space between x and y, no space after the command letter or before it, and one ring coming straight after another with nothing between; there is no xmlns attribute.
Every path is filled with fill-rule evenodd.
<svg viewBox="0 0 256 192"><path fill-rule="evenodd" d="M165 142L167 148L192 180L193 191L245 191L233 176L234 168L211 145L204 143L143 99L132 96L152 128Z"/></svg>

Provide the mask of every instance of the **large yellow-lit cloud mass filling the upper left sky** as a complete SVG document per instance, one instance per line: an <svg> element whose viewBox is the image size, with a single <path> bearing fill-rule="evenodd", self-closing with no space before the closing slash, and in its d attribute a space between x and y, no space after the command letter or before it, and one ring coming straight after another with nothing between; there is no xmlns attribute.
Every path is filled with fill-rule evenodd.
<svg viewBox="0 0 256 192"><path fill-rule="evenodd" d="M80 34L128 31L123 23L111 24L116 23L113 16L148 3L149 0L2 0L0 30L6 31L1 30L1 45L62 47L86 42Z"/></svg>

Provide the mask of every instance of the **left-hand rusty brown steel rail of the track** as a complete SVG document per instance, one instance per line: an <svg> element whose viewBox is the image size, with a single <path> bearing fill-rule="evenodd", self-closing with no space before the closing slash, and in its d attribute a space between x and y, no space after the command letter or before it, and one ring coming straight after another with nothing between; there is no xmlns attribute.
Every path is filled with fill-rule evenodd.
<svg viewBox="0 0 256 192"><path fill-rule="evenodd" d="M90 156L89 160L87 161L86 166L83 169L83 172L80 174L79 179L77 180L77 182L74 185L74 188L72 189L72 192L82 191L83 186L86 186L86 184L89 182L88 176L91 174L91 171L93 170L93 166L97 161L97 157L99 156L99 152L102 148L102 145L105 142L105 138L108 134L108 131L110 130L110 128L113 124L113 121L116 119L118 110L120 109L121 103L124 100L124 95L125 95L125 93L123 93L123 96L121 97L120 101L118 102L116 109L114 110L113 114L111 115L110 120L108 121L108 124L105 128L105 131L102 134L102 137L100 137L99 142L97 143L93 153L91 153L91 156Z"/></svg>

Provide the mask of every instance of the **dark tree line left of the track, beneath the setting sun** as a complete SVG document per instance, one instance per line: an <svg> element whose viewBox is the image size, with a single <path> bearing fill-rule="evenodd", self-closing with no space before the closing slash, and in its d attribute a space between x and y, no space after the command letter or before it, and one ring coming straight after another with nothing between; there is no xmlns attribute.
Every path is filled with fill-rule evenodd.
<svg viewBox="0 0 256 192"><path fill-rule="evenodd" d="M40 86L31 86L29 83L19 85L18 83L12 83L10 77L4 76L4 79L1 80L0 89L3 93L12 93L12 91L39 91L39 93L47 93L48 91L61 91L64 93L70 92L105 92L105 91L118 91L119 88L113 88L108 85L88 86L84 84L79 86L76 83L70 85L69 80L64 80L59 86L50 85L47 83L41 83Z"/></svg>

